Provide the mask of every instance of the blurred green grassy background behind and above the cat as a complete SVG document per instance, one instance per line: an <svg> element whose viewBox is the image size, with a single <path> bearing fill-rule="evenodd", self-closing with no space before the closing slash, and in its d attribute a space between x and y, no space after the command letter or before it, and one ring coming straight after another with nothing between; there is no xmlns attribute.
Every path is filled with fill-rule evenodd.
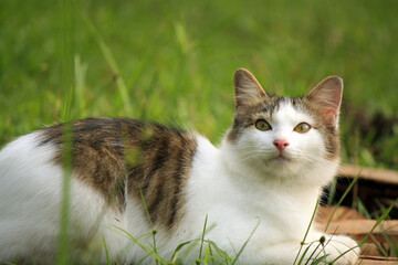
<svg viewBox="0 0 398 265"><path fill-rule="evenodd" d="M286 96L342 76L344 161L398 169L397 43L396 0L1 0L0 146L91 116L217 144L247 67Z"/></svg>

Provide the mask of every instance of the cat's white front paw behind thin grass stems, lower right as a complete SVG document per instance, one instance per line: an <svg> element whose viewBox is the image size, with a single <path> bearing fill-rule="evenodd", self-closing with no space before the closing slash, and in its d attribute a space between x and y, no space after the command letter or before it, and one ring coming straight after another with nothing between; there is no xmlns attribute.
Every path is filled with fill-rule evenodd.
<svg viewBox="0 0 398 265"><path fill-rule="evenodd" d="M334 265L354 265L359 255L358 244L344 235L333 235L326 237L324 247L328 263Z"/></svg>

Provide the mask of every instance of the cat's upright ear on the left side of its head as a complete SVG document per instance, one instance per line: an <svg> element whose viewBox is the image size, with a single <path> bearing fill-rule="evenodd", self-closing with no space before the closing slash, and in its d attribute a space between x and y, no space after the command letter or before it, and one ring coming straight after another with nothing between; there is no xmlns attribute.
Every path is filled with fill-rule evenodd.
<svg viewBox="0 0 398 265"><path fill-rule="evenodd" d="M237 108L268 97L254 75L245 68L239 68L234 73L234 91Z"/></svg>

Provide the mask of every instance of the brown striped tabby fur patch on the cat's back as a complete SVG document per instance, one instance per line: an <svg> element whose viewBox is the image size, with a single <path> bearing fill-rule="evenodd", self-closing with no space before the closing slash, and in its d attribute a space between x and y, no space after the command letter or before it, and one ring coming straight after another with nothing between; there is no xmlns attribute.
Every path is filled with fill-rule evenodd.
<svg viewBox="0 0 398 265"><path fill-rule="evenodd" d="M41 130L40 145L56 146L57 165L63 163L63 146L71 145L64 142L67 134L73 136L70 156L75 178L121 212L127 194L138 201L144 198L151 222L167 227L177 223L197 146L192 135L126 118L55 125Z"/></svg>

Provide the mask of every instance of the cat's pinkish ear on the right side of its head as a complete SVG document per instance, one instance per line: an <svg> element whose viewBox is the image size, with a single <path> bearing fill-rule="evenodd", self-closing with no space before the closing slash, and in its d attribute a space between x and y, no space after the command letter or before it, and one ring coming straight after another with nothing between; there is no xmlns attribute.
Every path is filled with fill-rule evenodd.
<svg viewBox="0 0 398 265"><path fill-rule="evenodd" d="M343 97L343 80L336 75L326 77L305 96L315 104L318 114L327 123L338 126L338 113Z"/></svg>

